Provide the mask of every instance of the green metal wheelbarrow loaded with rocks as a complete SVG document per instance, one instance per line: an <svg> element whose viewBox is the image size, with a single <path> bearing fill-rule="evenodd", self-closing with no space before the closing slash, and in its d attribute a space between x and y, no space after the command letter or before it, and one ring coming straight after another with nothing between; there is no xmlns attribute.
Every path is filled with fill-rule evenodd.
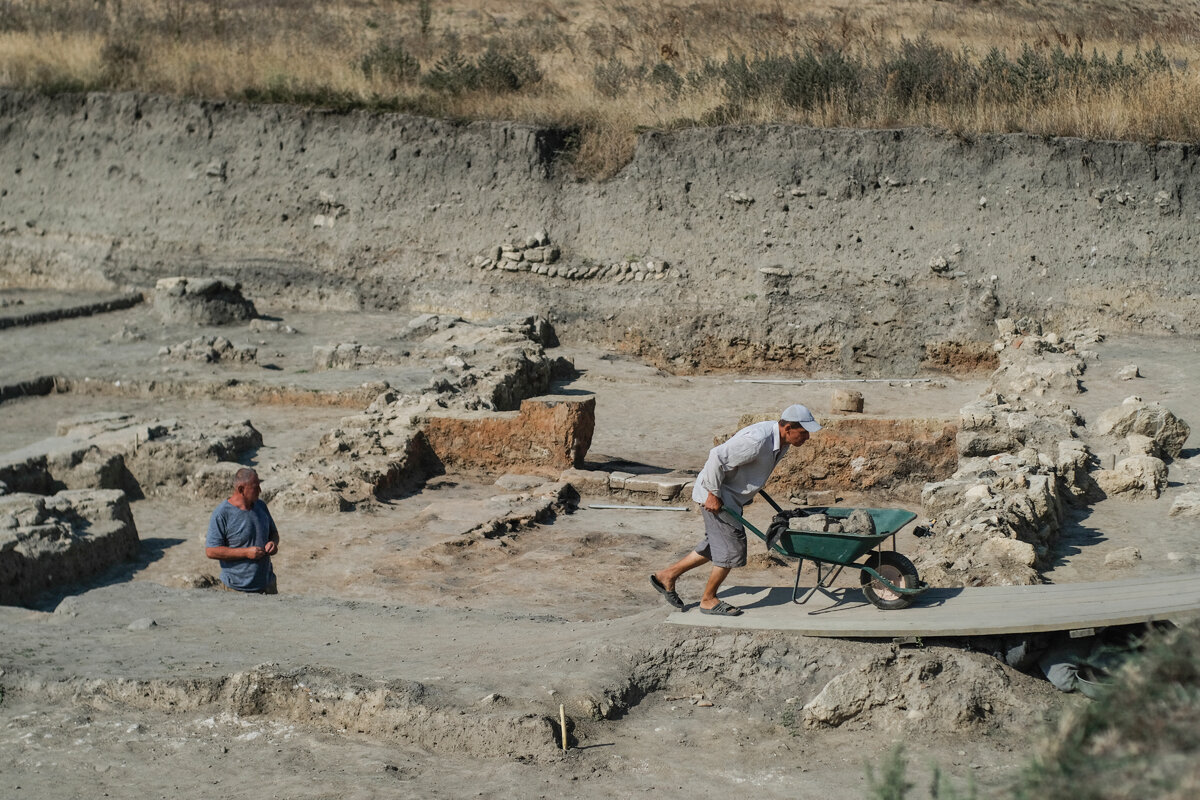
<svg viewBox="0 0 1200 800"><path fill-rule="evenodd" d="M767 497L764 492L760 492L760 494L775 511L788 516L788 512L775 505L775 501ZM792 587L793 603L808 601L812 596L812 593L818 589L828 594L829 587L845 567L859 570L858 578L863 588L863 595L877 608L907 608L920 593L929 589L929 584L923 582L917 575L917 567L913 566L912 561L895 551L896 531L917 518L917 515L911 511L904 511L902 509L863 509L863 511L871 515L871 521L875 523L876 533L872 536L785 530L778 541L774 542L772 542L772 539L767 534L746 522L742 515L728 506L725 506L722 511L767 542L768 547L774 552L780 555L799 559L796 565L796 584ZM812 506L804 511L823 513L830 519L845 519L854 509ZM779 518L776 517L776 519ZM881 546L888 537L892 537L892 549L883 549ZM866 559L859 563L859 559L864 555ZM800 572L804 570L805 560L812 561L816 565L817 583L803 597L799 597Z"/></svg>

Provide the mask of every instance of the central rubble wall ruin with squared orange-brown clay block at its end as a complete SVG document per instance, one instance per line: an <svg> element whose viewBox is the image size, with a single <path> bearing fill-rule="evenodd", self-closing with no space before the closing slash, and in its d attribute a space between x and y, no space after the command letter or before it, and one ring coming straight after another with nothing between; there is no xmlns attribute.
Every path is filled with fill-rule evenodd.
<svg viewBox="0 0 1200 800"><path fill-rule="evenodd" d="M414 393L388 389L361 414L343 417L293 465L264 476L269 499L307 511L348 511L424 481L444 467L443 458L466 470L522 468L545 474L582 458L590 427L586 443L581 434L565 431L580 428L584 420L590 426L590 415L563 415L553 408L560 403L551 401L542 403L544 413L533 413L522 403L545 395L551 378L570 367L546 355L545 347L556 337L545 318L475 325L430 315L413 331L431 329L413 345L414 356L442 360L430 384ZM494 414L517 408L516 415ZM535 422L526 431L522 425L529 420ZM434 429L436 446L426 437Z"/></svg>

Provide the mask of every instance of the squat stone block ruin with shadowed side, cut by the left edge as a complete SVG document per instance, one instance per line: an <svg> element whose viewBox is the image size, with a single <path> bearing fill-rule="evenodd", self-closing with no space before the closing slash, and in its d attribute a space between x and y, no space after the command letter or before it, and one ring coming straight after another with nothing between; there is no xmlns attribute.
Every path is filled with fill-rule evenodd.
<svg viewBox="0 0 1200 800"><path fill-rule="evenodd" d="M133 560L138 547L124 492L0 495L0 604L28 602Z"/></svg>

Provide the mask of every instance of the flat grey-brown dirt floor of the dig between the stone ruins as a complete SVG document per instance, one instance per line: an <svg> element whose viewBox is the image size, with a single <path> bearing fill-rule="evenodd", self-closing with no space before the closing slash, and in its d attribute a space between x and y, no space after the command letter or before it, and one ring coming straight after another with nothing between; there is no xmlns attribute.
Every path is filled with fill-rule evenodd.
<svg viewBox="0 0 1200 800"><path fill-rule="evenodd" d="M416 385L427 377L420 366L311 368L313 345L396 345L403 315L260 311L299 333L217 332L257 345L259 363L270 368L164 362L155 355L160 347L202 331L163 327L144 306L0 331L5 383L56 374L166 386L6 402L0 452L54 435L60 419L97 411L250 419L263 433L253 457L262 469L289 462L355 413L360 407L349 396L362 384ZM1085 417L1138 393L1193 425L1200 420L1200 342L1122 338L1096 349L1087 391L1075 403ZM804 402L820 419L839 385L739 383L790 375L676 377L570 343L556 353L581 371L556 391L596 397L588 461L610 468L696 471L713 438L732 431L742 414ZM1117 380L1127 363L1138 363L1144 378ZM337 404L300 405L248 395L217 401L172 387L230 378L347 395ZM929 378L896 375L853 387L869 414L954 419L985 384L985 377ZM1195 571L1194 521L1166 510L1200 483L1198 435L1171 464L1162 498L1105 500L1072 519L1048 579ZM0 686L8 687L0 698L0 793L865 796L865 765L878 769L902 744L919 786L936 765L958 786L973 782L980 796L998 796L1034 754L1046 718L1086 702L1008 670L1028 705L1007 717L966 727L938 720L896 726L868 714L838 728L804 727L799 706L824 681L895 656L896 648L782 632L667 630L674 627L662 624L671 612L646 576L694 546L700 523L690 510L594 509L622 501L584 497L577 511L547 524L461 546L463 531L496 515L497 498L511 501L514 492L494 477L444 475L370 512L277 511L275 597L188 588L196 576L216 572L203 554L214 503L181 494L134 501L142 539L136 565L34 608L0 607ZM857 495L846 501L898 505ZM767 516L757 506L749 513L751 521ZM906 545L911 540L901 536L899 548ZM1140 563L1104 565L1108 552L1130 545L1141 549ZM787 565L756 555L731 581L788 585L791 576ZM689 575L680 594L695 599L702 579ZM968 646L948 640L926 650ZM792 670L792 663L804 668ZM295 699L304 692L307 705ZM322 703L328 715L311 710ZM604 711L589 716L588 703ZM556 746L556 726L545 723L557 720L559 704L570 716L565 752ZM403 724L379 727L380 720Z"/></svg>

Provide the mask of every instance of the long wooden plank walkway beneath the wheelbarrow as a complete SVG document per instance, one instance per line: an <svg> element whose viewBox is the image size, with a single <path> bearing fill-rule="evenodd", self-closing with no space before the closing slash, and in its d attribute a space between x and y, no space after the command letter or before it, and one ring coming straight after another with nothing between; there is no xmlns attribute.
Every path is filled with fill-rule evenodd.
<svg viewBox="0 0 1200 800"><path fill-rule="evenodd" d="M800 587L802 596L804 587ZM796 631L805 636L892 638L1072 631L1200 614L1200 573L1105 583L930 589L908 608L881 610L858 589L814 593L792 602L791 587L728 587L721 597L740 616L701 614L692 602L673 625Z"/></svg>

